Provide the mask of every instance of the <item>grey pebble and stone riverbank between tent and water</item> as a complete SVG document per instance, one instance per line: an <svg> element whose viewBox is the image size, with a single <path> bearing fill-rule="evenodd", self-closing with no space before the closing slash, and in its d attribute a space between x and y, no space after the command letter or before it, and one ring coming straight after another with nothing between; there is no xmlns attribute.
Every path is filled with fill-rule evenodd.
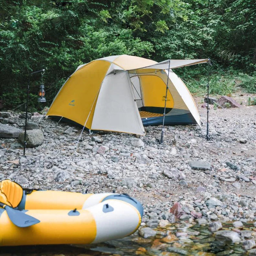
<svg viewBox="0 0 256 256"><path fill-rule="evenodd" d="M163 144L161 127L146 127L144 137L84 131L80 138L81 127L34 115L29 121L42 131L42 145L23 156L17 138L0 138L0 181L43 190L128 193L143 203L144 238L170 223L209 224L225 237L221 223L229 222L237 229L229 233L231 242L249 239L239 230L251 225L254 234L256 225L256 106L211 108L207 141L201 105L202 129L165 127ZM1 123L23 129L25 119L9 113ZM248 250L255 247L255 234L250 239Z"/></svg>

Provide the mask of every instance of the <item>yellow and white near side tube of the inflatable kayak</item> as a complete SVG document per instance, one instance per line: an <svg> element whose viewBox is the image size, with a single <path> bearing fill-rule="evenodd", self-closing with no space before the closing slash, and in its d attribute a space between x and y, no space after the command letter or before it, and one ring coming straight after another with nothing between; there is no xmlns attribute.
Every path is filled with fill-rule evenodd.
<svg viewBox="0 0 256 256"><path fill-rule="evenodd" d="M40 223L15 226L6 210L0 213L0 245L91 244L123 238L138 229L142 205L126 195L110 195L86 209L23 210Z"/></svg>

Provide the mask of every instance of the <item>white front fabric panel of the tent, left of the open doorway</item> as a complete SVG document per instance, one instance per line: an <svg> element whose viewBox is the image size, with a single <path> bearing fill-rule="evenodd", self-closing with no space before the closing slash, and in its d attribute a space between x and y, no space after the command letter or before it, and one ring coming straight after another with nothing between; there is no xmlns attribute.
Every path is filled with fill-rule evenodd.
<svg viewBox="0 0 256 256"><path fill-rule="evenodd" d="M145 134L127 76L126 71L105 76L95 106L92 130Z"/></svg>

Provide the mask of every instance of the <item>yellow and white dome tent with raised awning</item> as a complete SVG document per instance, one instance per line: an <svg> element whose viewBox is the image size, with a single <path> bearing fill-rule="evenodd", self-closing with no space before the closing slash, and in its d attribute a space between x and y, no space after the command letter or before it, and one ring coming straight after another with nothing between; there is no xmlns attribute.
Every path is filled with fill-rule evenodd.
<svg viewBox="0 0 256 256"><path fill-rule="evenodd" d="M190 92L171 69L207 61L157 63L129 55L93 60L80 65L69 76L47 115L68 118L90 130L144 135L143 125L162 123L166 102L165 124L197 123L200 126Z"/></svg>

